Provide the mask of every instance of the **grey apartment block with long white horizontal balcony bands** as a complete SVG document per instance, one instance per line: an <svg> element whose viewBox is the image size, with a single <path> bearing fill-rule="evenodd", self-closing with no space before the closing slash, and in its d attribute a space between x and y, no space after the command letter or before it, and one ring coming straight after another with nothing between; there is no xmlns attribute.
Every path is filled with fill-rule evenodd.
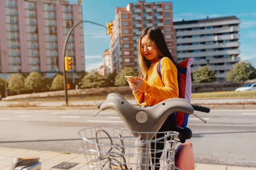
<svg viewBox="0 0 256 170"><path fill-rule="evenodd" d="M194 57L192 70L207 65L224 82L227 71L240 61L239 23L235 16L174 22L178 61Z"/></svg>

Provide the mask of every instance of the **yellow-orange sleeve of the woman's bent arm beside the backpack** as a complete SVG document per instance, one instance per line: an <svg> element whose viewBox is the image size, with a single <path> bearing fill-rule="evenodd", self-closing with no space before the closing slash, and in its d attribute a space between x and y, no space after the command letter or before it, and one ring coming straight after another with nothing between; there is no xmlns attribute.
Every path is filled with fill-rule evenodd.
<svg viewBox="0 0 256 170"><path fill-rule="evenodd" d="M177 98L179 96L179 88L177 81L177 68L173 62L166 58L162 59L161 63L161 74L164 87L157 87L153 84L150 84L146 81L143 81L140 91L150 94L151 97L155 99L169 99ZM157 74L158 73L153 73ZM159 81L161 79L159 78Z"/></svg>

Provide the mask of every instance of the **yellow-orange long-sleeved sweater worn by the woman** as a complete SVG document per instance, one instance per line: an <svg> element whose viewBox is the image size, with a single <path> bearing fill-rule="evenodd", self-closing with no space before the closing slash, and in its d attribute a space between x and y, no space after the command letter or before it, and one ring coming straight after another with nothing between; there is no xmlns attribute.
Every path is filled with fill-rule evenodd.
<svg viewBox="0 0 256 170"><path fill-rule="evenodd" d="M162 82L157 72L159 61L160 59L149 68L148 79L143 81L140 93L138 95L133 93L136 101L141 105L156 105L165 99L177 98L179 96L177 68L168 57L163 57L160 69ZM145 93L144 101L142 101L143 93Z"/></svg>

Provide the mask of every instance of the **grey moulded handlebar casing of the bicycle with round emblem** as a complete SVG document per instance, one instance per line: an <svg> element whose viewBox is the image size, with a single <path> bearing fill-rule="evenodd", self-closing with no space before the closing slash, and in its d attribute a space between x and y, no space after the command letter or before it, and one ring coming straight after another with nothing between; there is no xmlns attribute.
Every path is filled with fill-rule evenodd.
<svg viewBox="0 0 256 170"><path fill-rule="evenodd" d="M97 107L100 110L93 116L96 116L100 111L113 109L119 114L127 128L131 130L133 136L143 140L151 140L170 114L174 112L195 114L194 108L186 99L166 99L150 108L138 108L131 105L118 93L108 94L105 102L98 104Z"/></svg>

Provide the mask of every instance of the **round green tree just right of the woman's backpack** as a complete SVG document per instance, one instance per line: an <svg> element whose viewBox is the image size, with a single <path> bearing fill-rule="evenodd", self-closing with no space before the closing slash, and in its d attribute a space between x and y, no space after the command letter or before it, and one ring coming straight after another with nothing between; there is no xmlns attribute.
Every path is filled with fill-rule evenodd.
<svg viewBox="0 0 256 170"><path fill-rule="evenodd" d="M193 82L214 82L216 80L215 72L209 71L209 67L204 66L192 71Z"/></svg>

